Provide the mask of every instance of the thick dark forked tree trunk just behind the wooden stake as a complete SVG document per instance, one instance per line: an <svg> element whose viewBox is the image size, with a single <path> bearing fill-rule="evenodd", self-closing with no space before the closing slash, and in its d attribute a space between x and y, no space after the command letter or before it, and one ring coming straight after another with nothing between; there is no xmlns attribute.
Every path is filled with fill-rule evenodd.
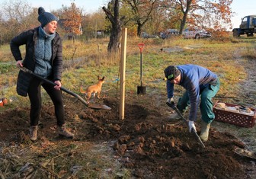
<svg viewBox="0 0 256 179"><path fill-rule="evenodd" d="M110 53L117 52L121 36L122 21L124 19L124 17L119 18L120 1L112 0L108 3L107 8L103 7L102 9L112 24L110 42L108 43L107 51ZM114 14L112 14L111 11L114 11Z"/></svg>

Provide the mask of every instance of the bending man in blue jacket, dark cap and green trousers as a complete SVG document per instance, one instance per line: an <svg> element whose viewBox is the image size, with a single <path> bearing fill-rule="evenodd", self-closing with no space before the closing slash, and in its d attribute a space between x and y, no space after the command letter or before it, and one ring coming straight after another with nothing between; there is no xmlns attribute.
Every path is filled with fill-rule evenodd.
<svg viewBox="0 0 256 179"><path fill-rule="evenodd" d="M179 98L177 108L181 113L184 113L190 104L188 117L190 132L192 129L197 131L194 122L197 120L197 109L200 106L202 116L200 138L206 142L209 136L210 123L215 118L212 98L219 91L219 78L209 69L190 64L168 66L165 69L165 78L167 78L168 103L174 102L174 85L181 85L186 89L183 96ZM178 113L174 113L171 118L177 119Z"/></svg>

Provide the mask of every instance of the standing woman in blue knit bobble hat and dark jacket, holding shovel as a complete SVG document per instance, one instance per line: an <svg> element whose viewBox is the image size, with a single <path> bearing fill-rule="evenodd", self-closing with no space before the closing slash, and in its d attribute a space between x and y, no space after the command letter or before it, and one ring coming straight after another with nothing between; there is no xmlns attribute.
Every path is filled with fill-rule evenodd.
<svg viewBox="0 0 256 179"><path fill-rule="evenodd" d="M18 67L30 69L37 75L47 78L56 83L56 86L49 85L39 78L20 70L18 74L17 92L19 95L30 99L30 139L37 140L37 128L41 110L41 91L46 90L50 95L57 119L59 135L73 138L74 134L66 129L64 118L64 107L61 87L62 76L62 39L56 32L57 21L55 15L38 8L38 21L40 27L27 30L11 40L11 53L17 62ZM22 61L20 46L26 45L26 55Z"/></svg>

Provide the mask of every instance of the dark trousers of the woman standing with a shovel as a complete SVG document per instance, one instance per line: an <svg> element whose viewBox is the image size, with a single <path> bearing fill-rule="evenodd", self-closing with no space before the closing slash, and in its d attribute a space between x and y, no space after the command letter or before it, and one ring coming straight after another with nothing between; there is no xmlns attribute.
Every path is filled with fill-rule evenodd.
<svg viewBox="0 0 256 179"><path fill-rule="evenodd" d="M41 86L53 101L57 125L62 126L62 124L65 123L62 92L53 88L53 85L43 82L38 78L31 80L28 89L30 99L30 126L37 126L39 122L42 107Z"/></svg>

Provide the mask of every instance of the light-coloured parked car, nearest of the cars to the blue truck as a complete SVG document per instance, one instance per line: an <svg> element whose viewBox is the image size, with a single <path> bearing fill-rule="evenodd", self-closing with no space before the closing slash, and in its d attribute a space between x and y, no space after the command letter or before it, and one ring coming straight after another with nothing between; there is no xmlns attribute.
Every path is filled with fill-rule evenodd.
<svg viewBox="0 0 256 179"><path fill-rule="evenodd" d="M210 38L212 35L210 32L205 30L199 30L197 28L187 28L184 30L183 36L185 39L200 39L200 38Z"/></svg>

